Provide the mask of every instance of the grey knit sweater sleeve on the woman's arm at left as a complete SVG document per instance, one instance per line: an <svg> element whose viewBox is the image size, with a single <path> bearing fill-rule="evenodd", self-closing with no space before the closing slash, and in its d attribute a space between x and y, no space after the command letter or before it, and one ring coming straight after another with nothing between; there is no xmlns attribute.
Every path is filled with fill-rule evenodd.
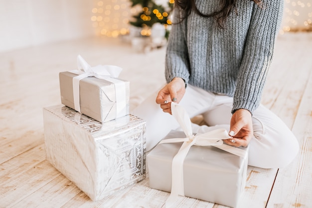
<svg viewBox="0 0 312 208"><path fill-rule="evenodd" d="M172 28L170 30L165 58L165 78L170 82L174 77L181 77L185 84L189 80L189 59L186 46L186 21L179 22L178 10L174 8ZM178 23L177 23L178 22Z"/></svg>

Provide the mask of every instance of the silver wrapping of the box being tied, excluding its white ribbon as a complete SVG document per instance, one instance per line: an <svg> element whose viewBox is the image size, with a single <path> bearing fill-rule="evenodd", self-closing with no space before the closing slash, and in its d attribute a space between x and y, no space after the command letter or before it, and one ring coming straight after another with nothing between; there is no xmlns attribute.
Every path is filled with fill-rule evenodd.
<svg viewBox="0 0 312 208"><path fill-rule="evenodd" d="M183 138L172 130L164 139ZM150 187L171 191L172 159L182 143L157 144L147 155ZM237 207L246 184L248 152L239 157L213 146L192 146L183 163L184 195Z"/></svg>

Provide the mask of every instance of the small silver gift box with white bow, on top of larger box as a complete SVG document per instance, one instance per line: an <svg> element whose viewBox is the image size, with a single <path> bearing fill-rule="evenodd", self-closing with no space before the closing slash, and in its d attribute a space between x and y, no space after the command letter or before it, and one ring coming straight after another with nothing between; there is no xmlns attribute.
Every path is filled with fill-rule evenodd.
<svg viewBox="0 0 312 208"><path fill-rule="evenodd" d="M80 55L79 70L59 73L61 103L97 121L129 114L130 83L118 78L121 68L91 67Z"/></svg>

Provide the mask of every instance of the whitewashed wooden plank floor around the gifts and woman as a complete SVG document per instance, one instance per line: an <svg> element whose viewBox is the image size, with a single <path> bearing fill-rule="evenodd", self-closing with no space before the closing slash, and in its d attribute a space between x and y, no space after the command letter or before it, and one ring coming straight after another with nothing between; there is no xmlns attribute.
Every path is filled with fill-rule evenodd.
<svg viewBox="0 0 312 208"><path fill-rule="evenodd" d="M165 48L134 52L119 39L88 38L0 53L0 208L160 208L168 193L149 179L92 202L45 160L42 107L60 104L58 73L90 65L124 68L131 108L164 83ZM284 169L248 167L239 208L312 208L312 35L279 37L262 103L297 136L301 152ZM179 197L176 208L224 208Z"/></svg>

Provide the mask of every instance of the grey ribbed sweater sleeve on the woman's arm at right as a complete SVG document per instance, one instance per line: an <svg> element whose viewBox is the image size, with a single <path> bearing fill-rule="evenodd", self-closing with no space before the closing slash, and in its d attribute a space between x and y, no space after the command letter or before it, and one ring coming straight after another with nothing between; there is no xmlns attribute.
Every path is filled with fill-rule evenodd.
<svg viewBox="0 0 312 208"><path fill-rule="evenodd" d="M284 0L262 1L262 6L256 3L253 6L233 98L232 113L243 108L253 114L260 104L271 64L275 39L283 16Z"/></svg>

